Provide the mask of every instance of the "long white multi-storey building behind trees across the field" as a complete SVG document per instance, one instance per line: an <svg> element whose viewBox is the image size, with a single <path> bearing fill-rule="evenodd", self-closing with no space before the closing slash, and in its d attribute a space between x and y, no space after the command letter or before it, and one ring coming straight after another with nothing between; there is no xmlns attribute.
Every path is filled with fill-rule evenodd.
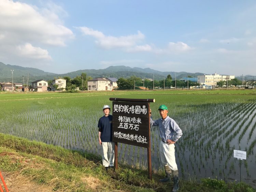
<svg viewBox="0 0 256 192"><path fill-rule="evenodd" d="M197 76L197 83L200 85L216 85L219 81L229 81L231 79L234 79L234 75L219 75L217 73L211 74L211 75L199 75Z"/></svg>

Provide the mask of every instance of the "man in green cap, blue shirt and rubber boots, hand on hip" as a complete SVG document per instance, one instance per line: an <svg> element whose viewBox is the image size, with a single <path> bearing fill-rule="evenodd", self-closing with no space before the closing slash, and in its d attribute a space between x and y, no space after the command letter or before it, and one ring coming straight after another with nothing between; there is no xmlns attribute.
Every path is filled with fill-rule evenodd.
<svg viewBox="0 0 256 192"><path fill-rule="evenodd" d="M171 176L173 176L174 186L172 191L176 192L179 190L179 171L175 161L174 143L176 143L182 136L182 131L179 125L168 116L168 108L166 105L160 105L158 110L162 118L154 121L151 116L150 124L159 127L161 137L161 141L159 143L159 153L161 163L165 167L166 177L164 179L160 179L160 181L170 181Z"/></svg>

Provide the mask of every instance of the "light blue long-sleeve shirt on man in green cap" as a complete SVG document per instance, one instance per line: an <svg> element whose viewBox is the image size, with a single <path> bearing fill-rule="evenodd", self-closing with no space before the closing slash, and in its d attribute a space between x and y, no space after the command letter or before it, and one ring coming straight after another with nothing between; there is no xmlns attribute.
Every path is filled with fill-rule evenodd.
<svg viewBox="0 0 256 192"><path fill-rule="evenodd" d="M182 131L179 125L169 116L167 116L164 120L160 118L155 121L151 116L150 124L159 127L160 137L163 142L167 142L167 139L176 142L182 136Z"/></svg>

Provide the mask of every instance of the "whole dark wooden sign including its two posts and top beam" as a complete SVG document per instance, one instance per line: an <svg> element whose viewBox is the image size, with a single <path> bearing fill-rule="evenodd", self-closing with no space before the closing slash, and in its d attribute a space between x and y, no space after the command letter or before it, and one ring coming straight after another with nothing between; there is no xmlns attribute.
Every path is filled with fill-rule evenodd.
<svg viewBox="0 0 256 192"><path fill-rule="evenodd" d="M155 99L110 98L113 101L112 141L115 142L115 168L117 164L117 143L147 148L148 178L152 180L150 102Z"/></svg>

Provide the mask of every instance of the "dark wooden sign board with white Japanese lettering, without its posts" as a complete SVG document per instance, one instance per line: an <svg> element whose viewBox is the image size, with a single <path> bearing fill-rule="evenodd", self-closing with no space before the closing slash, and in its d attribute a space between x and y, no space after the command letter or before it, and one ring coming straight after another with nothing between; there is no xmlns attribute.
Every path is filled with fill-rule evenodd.
<svg viewBox="0 0 256 192"><path fill-rule="evenodd" d="M148 147L148 102L113 101L112 141Z"/></svg>

